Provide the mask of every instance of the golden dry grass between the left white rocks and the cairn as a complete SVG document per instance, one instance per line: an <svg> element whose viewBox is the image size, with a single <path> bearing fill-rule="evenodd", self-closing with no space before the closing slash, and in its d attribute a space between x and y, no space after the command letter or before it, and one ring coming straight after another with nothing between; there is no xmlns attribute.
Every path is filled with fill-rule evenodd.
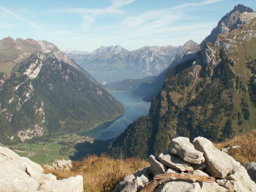
<svg viewBox="0 0 256 192"><path fill-rule="evenodd" d="M44 169L44 172L52 173L58 179L82 175L85 192L104 192L113 191L125 175L149 165L147 161L138 158L113 159L105 155L89 156L82 162L72 163L74 167L70 171Z"/></svg>

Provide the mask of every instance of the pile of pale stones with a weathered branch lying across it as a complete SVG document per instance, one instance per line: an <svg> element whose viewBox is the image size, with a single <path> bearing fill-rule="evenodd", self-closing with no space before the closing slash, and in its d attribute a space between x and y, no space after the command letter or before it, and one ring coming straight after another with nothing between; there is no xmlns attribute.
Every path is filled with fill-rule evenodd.
<svg viewBox="0 0 256 192"><path fill-rule="evenodd" d="M150 166L124 177L119 192L256 192L246 169L231 156L197 137L171 141L170 150L150 155ZM250 167L252 167L250 165Z"/></svg>

